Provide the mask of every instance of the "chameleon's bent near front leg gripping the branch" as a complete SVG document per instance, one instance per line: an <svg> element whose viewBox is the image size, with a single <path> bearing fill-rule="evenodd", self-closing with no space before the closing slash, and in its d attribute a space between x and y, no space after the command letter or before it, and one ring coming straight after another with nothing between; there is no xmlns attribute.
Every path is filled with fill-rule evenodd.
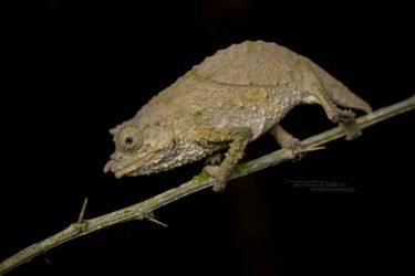
<svg viewBox="0 0 415 276"><path fill-rule="evenodd" d="M252 138L252 132L248 127L234 128L198 128L195 141L201 145L227 144L228 151L220 166L206 166L204 170L215 178L214 191L224 191L229 174L232 172L243 151Z"/></svg>

